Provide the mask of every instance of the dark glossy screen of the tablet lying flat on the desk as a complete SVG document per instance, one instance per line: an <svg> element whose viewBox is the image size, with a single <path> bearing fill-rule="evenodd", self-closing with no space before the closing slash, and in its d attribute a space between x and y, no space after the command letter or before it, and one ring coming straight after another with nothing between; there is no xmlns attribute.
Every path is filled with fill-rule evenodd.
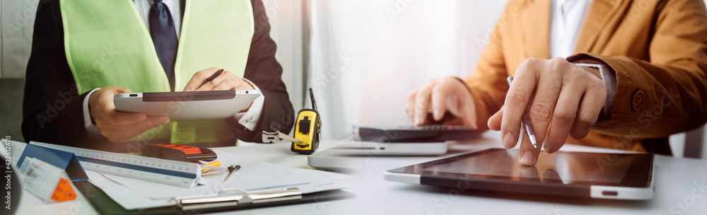
<svg viewBox="0 0 707 215"><path fill-rule="evenodd" d="M534 166L518 163L518 150L489 149L421 163L407 173L474 179L583 185L644 187L650 180L652 155L542 151Z"/></svg>

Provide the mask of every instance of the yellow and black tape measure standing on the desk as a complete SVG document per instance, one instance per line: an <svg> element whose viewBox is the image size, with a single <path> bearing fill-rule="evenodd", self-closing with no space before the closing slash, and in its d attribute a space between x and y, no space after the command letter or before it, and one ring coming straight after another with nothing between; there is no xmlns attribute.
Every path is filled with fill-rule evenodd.
<svg viewBox="0 0 707 215"><path fill-rule="evenodd" d="M319 140L322 136L322 119L317 112L317 102L314 99L312 88L310 98L312 98L312 109L302 109L297 114L295 121L295 139L301 143L292 143L291 151L301 154L312 154L319 148Z"/></svg>

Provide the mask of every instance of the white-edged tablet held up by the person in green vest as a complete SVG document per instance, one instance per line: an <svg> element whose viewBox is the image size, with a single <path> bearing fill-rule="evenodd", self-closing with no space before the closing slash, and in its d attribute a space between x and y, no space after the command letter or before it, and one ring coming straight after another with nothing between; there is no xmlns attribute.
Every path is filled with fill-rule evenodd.
<svg viewBox="0 0 707 215"><path fill-rule="evenodd" d="M115 110L170 116L170 121L218 120L233 117L258 98L260 91L192 91L118 93Z"/></svg>

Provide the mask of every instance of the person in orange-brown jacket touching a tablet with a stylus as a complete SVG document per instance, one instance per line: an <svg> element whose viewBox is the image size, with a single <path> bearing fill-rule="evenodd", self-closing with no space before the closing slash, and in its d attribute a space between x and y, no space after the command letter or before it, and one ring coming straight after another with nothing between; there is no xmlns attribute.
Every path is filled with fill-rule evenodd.
<svg viewBox="0 0 707 215"><path fill-rule="evenodd" d="M405 110L501 130L512 148L528 105L540 146L523 139L525 165L566 143L671 154L668 136L707 122L706 70L701 0L511 0L472 75L430 81Z"/></svg>

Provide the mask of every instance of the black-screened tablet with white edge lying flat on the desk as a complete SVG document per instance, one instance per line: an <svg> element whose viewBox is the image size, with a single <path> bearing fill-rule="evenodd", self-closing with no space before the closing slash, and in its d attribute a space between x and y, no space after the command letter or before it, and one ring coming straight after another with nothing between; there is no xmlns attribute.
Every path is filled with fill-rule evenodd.
<svg viewBox="0 0 707 215"><path fill-rule="evenodd" d="M487 149L387 170L385 180L477 192L652 199L651 153L545 153L534 166L517 149Z"/></svg>

